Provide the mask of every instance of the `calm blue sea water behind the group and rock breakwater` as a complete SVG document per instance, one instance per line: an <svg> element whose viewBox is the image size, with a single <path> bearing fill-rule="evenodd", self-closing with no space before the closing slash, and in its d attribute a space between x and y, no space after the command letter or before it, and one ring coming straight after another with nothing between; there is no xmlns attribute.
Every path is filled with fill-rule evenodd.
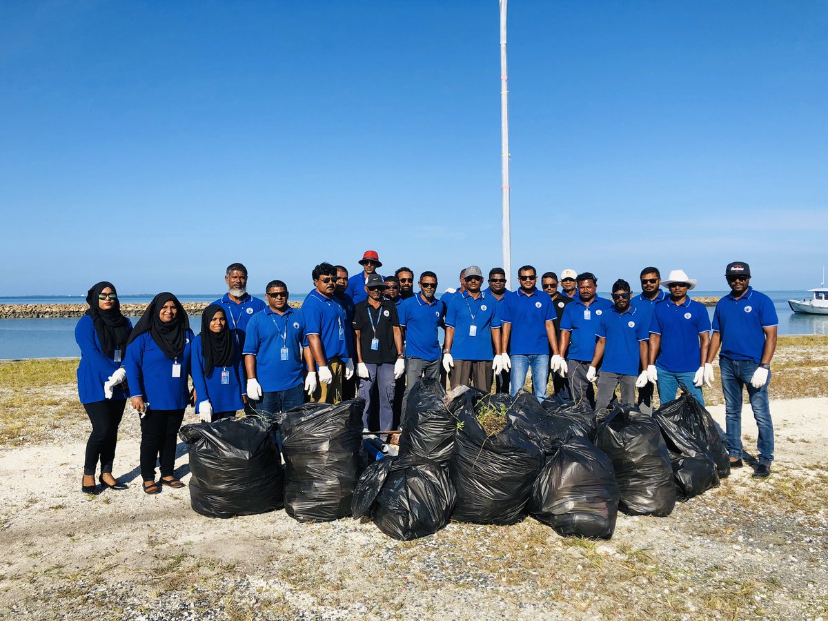
<svg viewBox="0 0 828 621"><path fill-rule="evenodd" d="M771 296L779 315L781 335L828 335L828 315L802 315L793 313L787 299L802 299L802 291L765 291ZM722 296L724 291L693 291L696 296ZM605 293L601 296L608 296ZM180 296L182 302L213 301L216 295ZM123 302L144 302L152 296L122 296ZM70 304L83 302L76 297L0 297L0 304ZM708 309L713 315L713 308ZM77 318L71 319L3 319L0 320L0 359L56 358L79 356L75 343ZM133 320L134 323L134 320ZM197 321L190 321L195 330Z"/></svg>

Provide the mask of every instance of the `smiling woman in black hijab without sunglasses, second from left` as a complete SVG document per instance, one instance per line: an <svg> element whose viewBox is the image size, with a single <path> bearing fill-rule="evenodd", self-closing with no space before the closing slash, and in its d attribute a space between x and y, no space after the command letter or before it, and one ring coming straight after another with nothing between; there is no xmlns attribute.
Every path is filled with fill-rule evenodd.
<svg viewBox="0 0 828 621"><path fill-rule="evenodd" d="M195 336L181 302L171 293L159 293L132 330L124 366L129 398L141 415L141 477L146 493L161 485L182 488L173 475L176 434L190 400L190 346ZM161 479L155 480L156 459Z"/></svg>

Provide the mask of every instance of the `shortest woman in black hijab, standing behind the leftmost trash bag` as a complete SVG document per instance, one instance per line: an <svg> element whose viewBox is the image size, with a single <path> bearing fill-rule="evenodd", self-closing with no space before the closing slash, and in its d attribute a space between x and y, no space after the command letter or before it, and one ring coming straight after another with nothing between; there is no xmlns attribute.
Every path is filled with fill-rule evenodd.
<svg viewBox="0 0 828 621"><path fill-rule="evenodd" d="M227 325L224 309L209 305L201 315L201 334L193 341L190 364L195 387L195 412L204 422L236 416L244 407L242 354Z"/></svg>

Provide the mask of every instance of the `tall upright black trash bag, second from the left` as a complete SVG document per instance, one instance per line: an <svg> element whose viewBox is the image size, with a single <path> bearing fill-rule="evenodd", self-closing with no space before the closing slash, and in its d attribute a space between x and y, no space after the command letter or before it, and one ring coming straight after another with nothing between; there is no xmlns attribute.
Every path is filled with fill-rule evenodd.
<svg viewBox="0 0 828 621"><path fill-rule="evenodd" d="M364 399L331 406L306 403L282 421L285 511L300 522L351 514L362 467Z"/></svg>

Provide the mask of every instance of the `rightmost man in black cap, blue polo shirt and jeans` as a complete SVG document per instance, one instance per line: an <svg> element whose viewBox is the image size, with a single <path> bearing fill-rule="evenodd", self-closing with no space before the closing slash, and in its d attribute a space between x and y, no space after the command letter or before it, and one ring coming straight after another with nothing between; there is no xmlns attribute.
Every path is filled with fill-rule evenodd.
<svg viewBox="0 0 828 621"><path fill-rule="evenodd" d="M759 465L753 476L763 478L771 474L773 461L773 420L768 404L768 384L779 319L773 301L750 286L750 266L747 263L729 263L724 275L730 293L716 304L713 338L707 353L710 368L708 370L705 365L705 373L712 376L713 359L721 346L719 366L730 466L742 466L742 392L743 388L747 388L753 418L759 430Z"/></svg>

